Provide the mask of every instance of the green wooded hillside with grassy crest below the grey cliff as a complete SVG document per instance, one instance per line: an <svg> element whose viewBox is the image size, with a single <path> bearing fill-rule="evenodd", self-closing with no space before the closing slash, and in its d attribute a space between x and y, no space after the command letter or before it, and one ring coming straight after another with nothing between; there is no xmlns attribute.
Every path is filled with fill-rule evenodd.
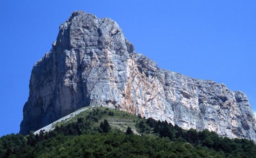
<svg viewBox="0 0 256 158"><path fill-rule="evenodd" d="M107 107L91 107L49 132L0 138L1 158L256 158L247 139L183 130Z"/></svg>

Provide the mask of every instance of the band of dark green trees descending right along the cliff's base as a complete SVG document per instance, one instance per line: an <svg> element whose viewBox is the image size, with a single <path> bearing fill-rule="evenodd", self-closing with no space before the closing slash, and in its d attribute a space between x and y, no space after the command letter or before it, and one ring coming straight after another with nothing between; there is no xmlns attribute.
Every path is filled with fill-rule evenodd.
<svg viewBox="0 0 256 158"><path fill-rule="evenodd" d="M141 120L138 124L142 131L147 131L145 130L147 126L152 133L158 134L160 137L168 137L171 141L187 142L193 146L204 146L220 152L225 157L256 158L256 144L252 140L223 138L215 132L209 132L208 129L184 130L167 121L156 121L152 118Z"/></svg>

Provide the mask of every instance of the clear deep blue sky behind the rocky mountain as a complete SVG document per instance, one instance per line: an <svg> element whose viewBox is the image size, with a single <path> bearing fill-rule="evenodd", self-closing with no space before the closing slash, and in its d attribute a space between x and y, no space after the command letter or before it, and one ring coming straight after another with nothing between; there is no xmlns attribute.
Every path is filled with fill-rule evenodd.
<svg viewBox="0 0 256 158"><path fill-rule="evenodd" d="M256 111L256 0L2 0L0 136L19 132L32 67L75 10L114 19L161 68L242 90Z"/></svg>

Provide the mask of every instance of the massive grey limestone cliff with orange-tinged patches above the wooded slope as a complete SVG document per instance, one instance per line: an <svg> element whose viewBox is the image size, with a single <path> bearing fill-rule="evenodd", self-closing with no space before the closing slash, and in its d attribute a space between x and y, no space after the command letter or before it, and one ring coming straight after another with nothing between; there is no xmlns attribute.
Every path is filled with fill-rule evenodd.
<svg viewBox="0 0 256 158"><path fill-rule="evenodd" d="M256 140L256 120L242 92L162 70L134 51L111 19L77 11L60 26L50 52L35 63L20 133L94 105Z"/></svg>

